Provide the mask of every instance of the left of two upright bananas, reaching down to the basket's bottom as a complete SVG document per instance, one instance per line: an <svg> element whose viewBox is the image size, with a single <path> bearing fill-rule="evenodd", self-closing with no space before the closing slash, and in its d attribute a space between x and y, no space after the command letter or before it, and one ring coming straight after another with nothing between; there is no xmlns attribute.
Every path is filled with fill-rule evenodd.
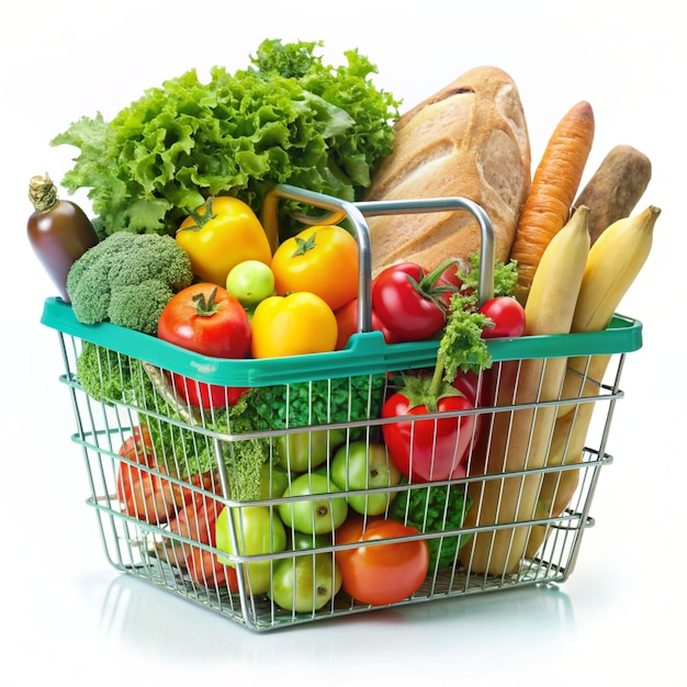
<svg viewBox="0 0 687 687"><path fill-rule="evenodd" d="M526 334L567 334L589 254L589 209L582 205L547 246L534 272L526 305ZM572 294L572 299L571 299ZM555 421L555 401L565 374L565 358L506 361L499 364L497 406L488 441L477 451L470 476L542 468L548 460ZM482 453L480 453L482 452ZM511 475L472 482L473 507L465 527L491 527L530 520L536 511L541 474ZM530 527L504 527L475 533L460 552L474 573L504 575L517 568Z"/></svg>

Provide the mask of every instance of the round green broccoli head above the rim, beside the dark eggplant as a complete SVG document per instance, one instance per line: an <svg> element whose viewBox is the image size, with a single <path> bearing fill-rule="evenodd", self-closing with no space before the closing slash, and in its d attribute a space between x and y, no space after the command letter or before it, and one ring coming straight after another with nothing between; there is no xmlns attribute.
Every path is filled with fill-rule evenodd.
<svg viewBox="0 0 687 687"><path fill-rule="evenodd" d="M167 302L192 282L191 260L171 236L115 232L74 263L67 293L79 322L155 336Z"/></svg>

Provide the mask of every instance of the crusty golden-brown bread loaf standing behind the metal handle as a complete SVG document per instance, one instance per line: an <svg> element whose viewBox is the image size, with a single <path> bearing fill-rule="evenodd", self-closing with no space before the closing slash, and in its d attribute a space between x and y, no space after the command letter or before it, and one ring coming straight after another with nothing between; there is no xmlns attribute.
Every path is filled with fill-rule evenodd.
<svg viewBox="0 0 687 687"><path fill-rule="evenodd" d="M477 67L404 113L394 149L365 200L463 196L478 203L507 261L531 181L530 143L518 89L496 67ZM427 270L480 248L468 212L370 216L372 271L412 261Z"/></svg>

